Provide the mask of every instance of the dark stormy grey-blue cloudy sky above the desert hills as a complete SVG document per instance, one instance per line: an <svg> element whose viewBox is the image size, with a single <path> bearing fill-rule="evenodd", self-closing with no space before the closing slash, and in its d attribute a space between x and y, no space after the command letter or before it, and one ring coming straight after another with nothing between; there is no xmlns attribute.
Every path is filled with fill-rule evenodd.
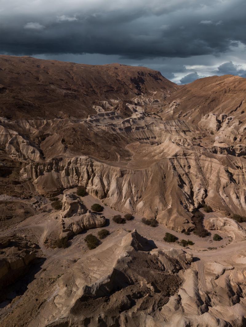
<svg viewBox="0 0 246 327"><path fill-rule="evenodd" d="M1 54L246 77L245 0L0 0Z"/></svg>

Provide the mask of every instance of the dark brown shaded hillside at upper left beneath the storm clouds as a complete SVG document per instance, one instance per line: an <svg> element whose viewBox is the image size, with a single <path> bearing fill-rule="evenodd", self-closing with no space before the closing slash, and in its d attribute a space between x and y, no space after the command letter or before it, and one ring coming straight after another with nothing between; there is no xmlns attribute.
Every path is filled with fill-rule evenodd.
<svg viewBox="0 0 246 327"><path fill-rule="evenodd" d="M92 66L0 56L0 67L0 116L11 119L81 118L96 112L95 100L126 100L156 89L167 93L177 88L158 71L120 64Z"/></svg>

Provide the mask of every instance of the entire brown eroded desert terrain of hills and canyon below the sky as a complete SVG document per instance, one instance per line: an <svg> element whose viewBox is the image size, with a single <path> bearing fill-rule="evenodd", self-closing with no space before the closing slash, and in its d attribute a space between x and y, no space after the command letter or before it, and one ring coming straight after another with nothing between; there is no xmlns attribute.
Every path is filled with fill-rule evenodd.
<svg viewBox="0 0 246 327"><path fill-rule="evenodd" d="M246 326L245 140L243 77L1 55L1 326Z"/></svg>

